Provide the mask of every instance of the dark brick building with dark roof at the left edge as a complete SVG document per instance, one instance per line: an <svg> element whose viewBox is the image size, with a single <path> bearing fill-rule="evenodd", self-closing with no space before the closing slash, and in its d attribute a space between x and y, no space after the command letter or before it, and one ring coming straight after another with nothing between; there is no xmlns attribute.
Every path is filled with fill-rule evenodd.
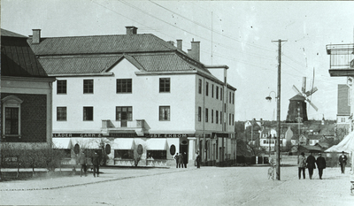
<svg viewBox="0 0 354 206"><path fill-rule="evenodd" d="M53 81L27 36L1 29L1 142L27 148L51 142Z"/></svg>

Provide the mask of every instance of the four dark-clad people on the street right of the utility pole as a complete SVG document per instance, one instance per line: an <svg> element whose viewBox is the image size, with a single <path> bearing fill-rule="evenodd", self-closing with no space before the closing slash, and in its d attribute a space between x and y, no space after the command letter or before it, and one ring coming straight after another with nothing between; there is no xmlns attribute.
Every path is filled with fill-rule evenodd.
<svg viewBox="0 0 354 206"><path fill-rule="evenodd" d="M347 164L347 156L345 156L344 151L342 151L342 155L339 156L339 164L341 165L341 171L343 174L345 171L345 165ZM310 179L312 179L313 169L316 169L316 165L319 170L319 179L322 179L323 170L326 168L326 159L321 156L320 153L317 159L312 156L312 153L306 158L304 157L304 152L302 152L298 159L298 178L301 179L301 172L303 172L303 177L305 179L305 168L307 168Z"/></svg>

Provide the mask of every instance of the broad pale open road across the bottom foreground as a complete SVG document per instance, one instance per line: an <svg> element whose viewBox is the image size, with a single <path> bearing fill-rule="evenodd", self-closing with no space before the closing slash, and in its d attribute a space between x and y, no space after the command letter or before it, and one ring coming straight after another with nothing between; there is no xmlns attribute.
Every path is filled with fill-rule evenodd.
<svg viewBox="0 0 354 206"><path fill-rule="evenodd" d="M103 169L99 178L65 177L0 183L10 205L352 205L350 175L327 168L324 179L297 179L296 166L201 169ZM22 190L23 189L23 190ZM31 190L39 189L39 190Z"/></svg>

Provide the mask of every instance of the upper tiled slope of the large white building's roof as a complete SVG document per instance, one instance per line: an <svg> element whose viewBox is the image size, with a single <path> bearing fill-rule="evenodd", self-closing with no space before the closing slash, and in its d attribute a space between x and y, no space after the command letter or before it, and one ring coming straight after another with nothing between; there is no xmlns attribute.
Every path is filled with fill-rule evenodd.
<svg viewBox="0 0 354 206"><path fill-rule="evenodd" d="M41 38L28 44L36 55L122 54L177 50L153 34L120 34Z"/></svg>

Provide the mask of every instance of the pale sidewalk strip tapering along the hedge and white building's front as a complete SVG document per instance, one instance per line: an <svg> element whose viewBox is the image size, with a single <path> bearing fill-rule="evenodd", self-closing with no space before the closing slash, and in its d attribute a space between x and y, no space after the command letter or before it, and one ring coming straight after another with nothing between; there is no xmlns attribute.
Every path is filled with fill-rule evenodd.
<svg viewBox="0 0 354 206"><path fill-rule="evenodd" d="M72 172L70 168L62 169L66 172L65 175L50 175L31 179L19 179L0 182L0 191L24 191L24 190L47 190L62 187L75 187L100 182L114 181L118 179L132 179L158 175L163 173L187 172L196 170L196 167L191 168L130 168L130 167L102 167L100 168L99 177L94 177L92 172L87 172L87 177L80 176L80 170L75 172L75 175L68 174ZM2 169L2 172L16 172L16 169ZM36 169L35 172L45 172L45 169ZM20 172L32 172L32 169L21 169Z"/></svg>

